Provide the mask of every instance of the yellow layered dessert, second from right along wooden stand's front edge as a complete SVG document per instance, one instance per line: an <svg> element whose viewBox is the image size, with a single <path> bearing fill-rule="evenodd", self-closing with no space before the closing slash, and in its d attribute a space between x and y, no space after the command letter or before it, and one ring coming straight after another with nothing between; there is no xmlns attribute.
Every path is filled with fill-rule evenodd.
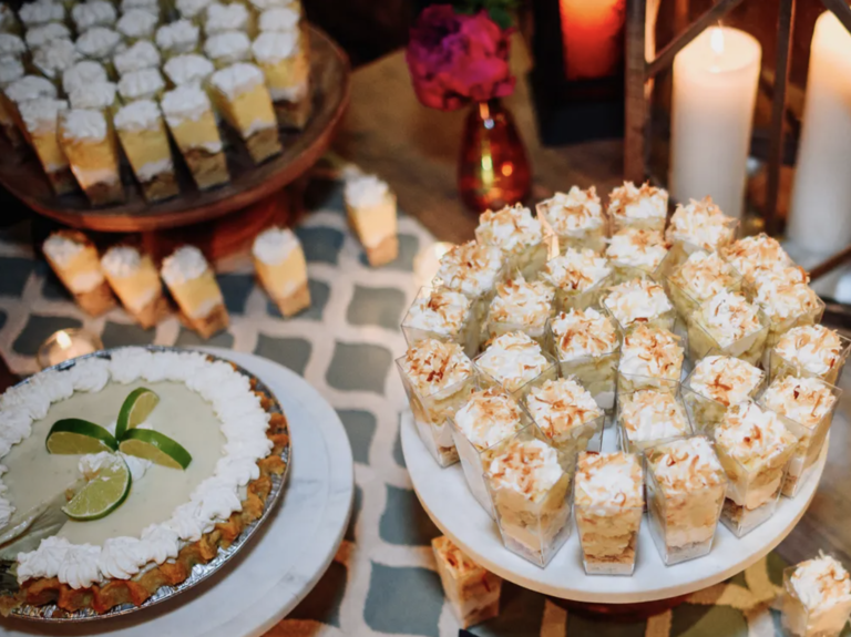
<svg viewBox="0 0 851 637"><path fill-rule="evenodd" d="M213 95L225 121L248 148L256 164L280 154L278 124L263 71L254 64L233 64L209 79Z"/></svg>

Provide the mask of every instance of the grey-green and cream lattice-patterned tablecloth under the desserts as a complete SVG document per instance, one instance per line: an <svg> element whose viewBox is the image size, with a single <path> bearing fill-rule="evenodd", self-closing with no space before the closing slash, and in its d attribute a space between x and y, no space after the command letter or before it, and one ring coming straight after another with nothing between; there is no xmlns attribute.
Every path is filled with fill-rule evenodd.
<svg viewBox="0 0 851 637"><path fill-rule="evenodd" d="M430 541L439 534L404 469L399 413L406 400L393 359L404 351L399 323L417 291L413 261L433 238L401 216L399 258L366 265L349 233L339 184L311 187L311 214L296 229L308 260L312 307L284 320L254 281L248 261L218 275L232 325L207 345L255 352L303 374L337 409L355 454L356 494L346 538L326 575L269 636L458 635L443 602ZM35 352L52 332L84 326L104 346L202 341L170 318L143 330L120 309L85 316L33 256L28 224L0 232L0 349L12 370L37 371ZM785 565L773 554L747 572L636 621L589 619L562 603L506 584L499 618L480 636L769 637Z"/></svg>

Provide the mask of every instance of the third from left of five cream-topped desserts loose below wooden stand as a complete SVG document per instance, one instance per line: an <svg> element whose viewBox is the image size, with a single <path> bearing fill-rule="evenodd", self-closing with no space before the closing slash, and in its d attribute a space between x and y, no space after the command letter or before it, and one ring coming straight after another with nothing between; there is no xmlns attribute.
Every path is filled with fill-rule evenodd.
<svg viewBox="0 0 851 637"><path fill-rule="evenodd" d="M202 338L227 328L229 318L216 275L198 248L177 248L163 260L161 274L183 320Z"/></svg>

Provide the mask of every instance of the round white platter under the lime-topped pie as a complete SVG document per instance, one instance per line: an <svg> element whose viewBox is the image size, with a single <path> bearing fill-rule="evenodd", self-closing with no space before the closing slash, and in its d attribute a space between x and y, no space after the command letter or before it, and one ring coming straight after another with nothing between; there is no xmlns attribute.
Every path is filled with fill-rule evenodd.
<svg viewBox="0 0 851 637"><path fill-rule="evenodd" d="M293 461L278 510L221 572L145 613L69 626L0 619L0 634L255 637L284 618L326 572L342 542L355 489L351 448L337 412L301 377L278 363L205 349L260 378L284 408Z"/></svg>

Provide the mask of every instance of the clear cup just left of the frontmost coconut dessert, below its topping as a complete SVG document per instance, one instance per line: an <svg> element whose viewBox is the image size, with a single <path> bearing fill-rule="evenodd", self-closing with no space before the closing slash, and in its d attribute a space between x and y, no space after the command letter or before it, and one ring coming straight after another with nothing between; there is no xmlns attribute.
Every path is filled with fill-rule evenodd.
<svg viewBox="0 0 851 637"><path fill-rule="evenodd" d="M535 439L546 444L544 434L532 425L499 443L493 455L514 440ZM489 477L485 483L505 548L544 568L571 536L571 474L562 471L555 484L535 501L515 489L495 489Z"/></svg>

